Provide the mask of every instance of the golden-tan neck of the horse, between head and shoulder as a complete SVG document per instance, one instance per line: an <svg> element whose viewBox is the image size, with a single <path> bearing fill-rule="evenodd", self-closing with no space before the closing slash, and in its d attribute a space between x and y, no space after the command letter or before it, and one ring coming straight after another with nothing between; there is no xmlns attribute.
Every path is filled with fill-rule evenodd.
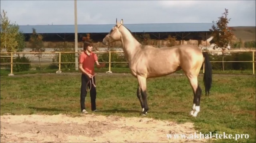
<svg viewBox="0 0 256 143"><path fill-rule="evenodd" d="M122 34L122 45L124 54L127 57L127 60L130 60L134 57L134 54L139 50L140 43L131 35L131 33L123 28L122 31L120 31Z"/></svg>

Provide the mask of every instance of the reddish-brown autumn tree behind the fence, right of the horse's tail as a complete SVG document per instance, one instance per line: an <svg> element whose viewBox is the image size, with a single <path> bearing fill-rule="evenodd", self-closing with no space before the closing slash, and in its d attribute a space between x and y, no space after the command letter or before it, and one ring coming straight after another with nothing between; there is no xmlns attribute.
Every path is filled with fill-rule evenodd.
<svg viewBox="0 0 256 143"><path fill-rule="evenodd" d="M213 36L213 41L215 42L215 48L221 48L222 51L225 51L234 38L234 34L231 31L231 28L227 26L231 18L227 18L228 9L225 9L225 12L221 17L218 17L219 20L215 21L217 27L215 25L210 29L211 36ZM214 21L213 21L214 22ZM224 61L224 52L222 52L222 60ZM223 71L224 71L224 62L222 62Z"/></svg>

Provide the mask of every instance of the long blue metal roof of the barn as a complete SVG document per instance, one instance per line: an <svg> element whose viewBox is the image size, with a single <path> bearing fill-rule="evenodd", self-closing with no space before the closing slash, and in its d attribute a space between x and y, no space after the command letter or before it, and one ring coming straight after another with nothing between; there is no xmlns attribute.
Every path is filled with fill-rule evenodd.
<svg viewBox="0 0 256 143"><path fill-rule="evenodd" d="M124 24L132 32L203 32L216 23L152 23ZM108 33L115 24L77 25L78 33ZM19 25L23 33L74 33L74 25Z"/></svg>

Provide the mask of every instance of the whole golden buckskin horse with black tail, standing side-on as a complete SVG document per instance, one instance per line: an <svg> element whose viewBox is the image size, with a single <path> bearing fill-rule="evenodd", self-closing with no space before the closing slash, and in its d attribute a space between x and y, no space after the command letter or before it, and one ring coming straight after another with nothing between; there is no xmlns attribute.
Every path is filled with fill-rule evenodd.
<svg viewBox="0 0 256 143"><path fill-rule="evenodd" d="M123 25L123 19L120 22L117 22L116 19L116 25L104 37L102 43L107 46L115 41L122 42L130 73L138 80L137 97L142 108L141 115L146 115L149 110L146 80L148 78L167 76L182 69L194 93L190 115L197 116L200 111L202 92L197 78L203 62L205 68L203 82L206 95L209 95L212 85L212 65L207 53L202 52L200 48L194 45L179 45L163 48L142 45L132 32Z"/></svg>

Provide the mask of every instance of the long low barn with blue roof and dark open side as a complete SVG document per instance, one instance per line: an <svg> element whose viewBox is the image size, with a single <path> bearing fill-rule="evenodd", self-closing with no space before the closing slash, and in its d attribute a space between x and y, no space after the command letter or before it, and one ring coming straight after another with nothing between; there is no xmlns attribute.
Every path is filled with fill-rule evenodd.
<svg viewBox="0 0 256 143"><path fill-rule="evenodd" d="M115 24L77 25L78 42L81 36L90 34L95 42L102 42L105 35ZM168 35L176 36L177 40L204 40L210 38L212 25L216 23L146 23L146 24L125 24L134 34L148 34L151 39L162 40ZM32 33L32 28L43 35L44 42L74 42L74 25L20 25L19 30L24 33L26 41Z"/></svg>

